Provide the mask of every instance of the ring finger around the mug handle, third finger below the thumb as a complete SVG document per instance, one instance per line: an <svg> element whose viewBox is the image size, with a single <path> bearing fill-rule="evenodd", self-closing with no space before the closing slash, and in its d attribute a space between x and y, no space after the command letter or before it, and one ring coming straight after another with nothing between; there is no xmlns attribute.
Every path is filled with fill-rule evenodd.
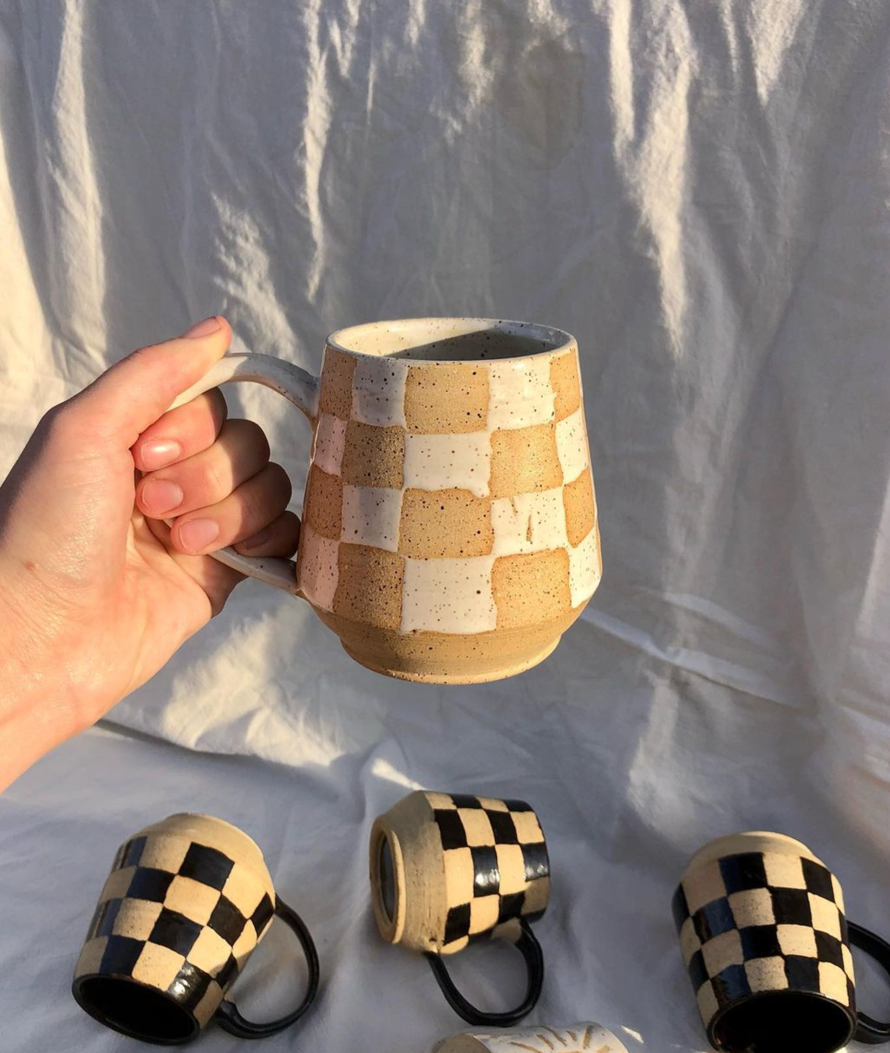
<svg viewBox="0 0 890 1053"><path fill-rule="evenodd" d="M171 529L171 540L189 555L216 552L258 534L278 519L290 499L288 473L280 464L266 464L216 504L179 516Z"/></svg>

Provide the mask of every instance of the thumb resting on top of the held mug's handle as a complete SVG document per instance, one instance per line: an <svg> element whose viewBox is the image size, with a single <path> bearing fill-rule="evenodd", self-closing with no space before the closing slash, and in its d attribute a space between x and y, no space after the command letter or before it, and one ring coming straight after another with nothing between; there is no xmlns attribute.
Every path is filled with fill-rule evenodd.
<svg viewBox="0 0 890 1053"><path fill-rule="evenodd" d="M196 383L225 354L232 329L212 315L174 340L140 347L72 400L104 437L127 449L177 395Z"/></svg>

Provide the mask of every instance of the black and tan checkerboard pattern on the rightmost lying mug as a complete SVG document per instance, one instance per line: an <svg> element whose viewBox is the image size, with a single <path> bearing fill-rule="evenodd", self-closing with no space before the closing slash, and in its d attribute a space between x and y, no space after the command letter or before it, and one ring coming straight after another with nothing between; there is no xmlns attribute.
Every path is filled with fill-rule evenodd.
<svg viewBox="0 0 890 1053"><path fill-rule="evenodd" d="M843 893L815 860L768 852L715 860L684 878L673 912L706 1028L760 991L811 991L855 1012Z"/></svg>

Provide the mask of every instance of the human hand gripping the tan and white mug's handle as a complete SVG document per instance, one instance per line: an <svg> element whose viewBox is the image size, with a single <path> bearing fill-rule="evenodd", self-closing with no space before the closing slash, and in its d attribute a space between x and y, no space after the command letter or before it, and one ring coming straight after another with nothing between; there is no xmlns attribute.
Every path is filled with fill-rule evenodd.
<svg viewBox="0 0 890 1053"><path fill-rule="evenodd" d="M222 609L242 576L207 553L296 550L262 431L226 420L217 390L165 412L231 336L209 318L118 362L46 414L0 486L0 787Z"/></svg>

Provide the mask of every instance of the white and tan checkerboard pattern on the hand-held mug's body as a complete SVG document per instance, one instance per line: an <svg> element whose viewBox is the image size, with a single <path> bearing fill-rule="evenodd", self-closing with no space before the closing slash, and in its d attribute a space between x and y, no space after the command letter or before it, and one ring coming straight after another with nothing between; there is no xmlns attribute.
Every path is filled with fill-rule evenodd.
<svg viewBox="0 0 890 1053"><path fill-rule="evenodd" d="M600 573L576 347L470 363L327 349L297 570L317 608L477 634L579 611Z"/></svg>

